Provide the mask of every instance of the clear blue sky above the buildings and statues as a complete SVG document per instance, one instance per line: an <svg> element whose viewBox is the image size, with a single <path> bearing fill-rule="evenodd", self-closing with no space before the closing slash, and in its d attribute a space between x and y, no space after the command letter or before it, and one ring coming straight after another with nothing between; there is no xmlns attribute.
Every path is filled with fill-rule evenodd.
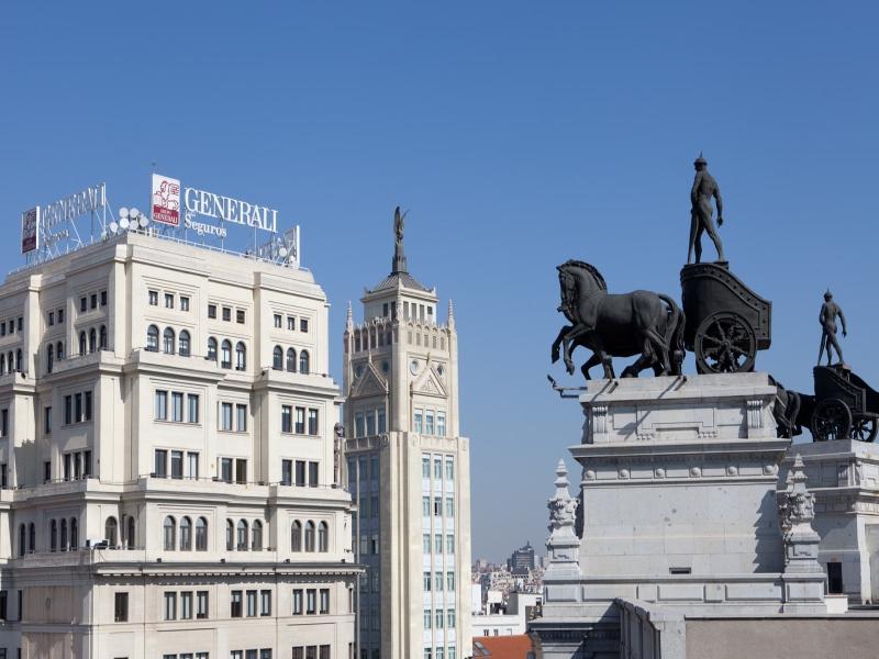
<svg viewBox="0 0 879 659"><path fill-rule="evenodd" d="M3 2L0 259L22 263L22 210L86 185L144 206L156 161L302 226L338 376L346 303L387 275L401 204L410 270L455 300L474 556L541 550L554 467L582 422L546 381L575 381L549 365L555 266L580 258L614 292L679 297L700 150L723 190L732 267L774 302L758 368L811 392L830 286L850 325L846 360L879 387L877 13Z"/></svg>

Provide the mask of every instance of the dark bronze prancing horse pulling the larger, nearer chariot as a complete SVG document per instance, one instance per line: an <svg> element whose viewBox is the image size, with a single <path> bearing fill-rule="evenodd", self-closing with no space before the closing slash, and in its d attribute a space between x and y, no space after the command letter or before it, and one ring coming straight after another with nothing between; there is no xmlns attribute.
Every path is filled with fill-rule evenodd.
<svg viewBox="0 0 879 659"><path fill-rule="evenodd" d="M668 295L649 291L625 294L608 293L601 273L587 263L568 260L558 266L561 304L558 311L571 323L565 325L553 343L553 362L564 348L565 367L574 375L571 351L576 346L592 350L582 365L583 377L598 364L604 377L613 379L611 357L641 355L622 376L637 377L645 368L657 376L681 372L683 362L685 316Z"/></svg>

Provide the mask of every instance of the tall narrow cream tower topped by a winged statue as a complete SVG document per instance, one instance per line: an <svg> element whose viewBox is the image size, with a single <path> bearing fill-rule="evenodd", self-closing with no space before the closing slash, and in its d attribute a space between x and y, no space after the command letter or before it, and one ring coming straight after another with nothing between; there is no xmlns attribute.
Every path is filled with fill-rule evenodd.
<svg viewBox="0 0 879 659"><path fill-rule="evenodd" d="M357 503L359 659L470 656L470 456L458 435L452 302L410 273L394 214L390 275L348 313L345 469Z"/></svg>

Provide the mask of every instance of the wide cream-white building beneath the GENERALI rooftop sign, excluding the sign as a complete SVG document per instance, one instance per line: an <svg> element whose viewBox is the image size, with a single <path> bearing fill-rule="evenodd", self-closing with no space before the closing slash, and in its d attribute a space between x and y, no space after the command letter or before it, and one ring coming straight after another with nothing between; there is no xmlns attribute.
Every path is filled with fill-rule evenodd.
<svg viewBox="0 0 879 659"><path fill-rule="evenodd" d="M311 273L123 232L0 287L0 659L344 659Z"/></svg>

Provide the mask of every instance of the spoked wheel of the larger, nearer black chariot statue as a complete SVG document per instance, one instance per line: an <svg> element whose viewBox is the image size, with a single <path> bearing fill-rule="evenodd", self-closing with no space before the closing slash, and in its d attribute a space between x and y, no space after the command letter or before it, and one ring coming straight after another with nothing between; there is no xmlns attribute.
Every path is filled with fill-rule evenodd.
<svg viewBox="0 0 879 659"><path fill-rule="evenodd" d="M754 370L757 337L741 315L721 311L699 325L693 351L700 373L744 373Z"/></svg>

